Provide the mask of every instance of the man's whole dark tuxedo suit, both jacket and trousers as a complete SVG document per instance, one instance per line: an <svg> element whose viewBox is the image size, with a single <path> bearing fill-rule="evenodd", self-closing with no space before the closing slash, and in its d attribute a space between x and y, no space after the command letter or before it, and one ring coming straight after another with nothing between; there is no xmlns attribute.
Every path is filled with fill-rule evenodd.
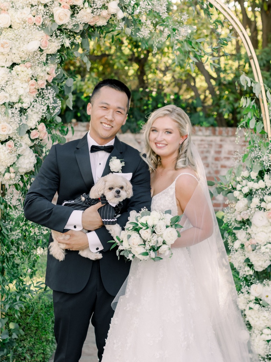
<svg viewBox="0 0 271 362"><path fill-rule="evenodd" d="M113 156L124 161L121 172L133 174L133 197L124 201L118 218L123 227L131 210L140 211L143 207L150 210L150 173L138 151L116 137L103 176L111 172L109 161ZM26 195L25 216L52 230L65 232L73 209L61 204L89 193L93 185L87 134L80 140L54 145ZM53 205L56 191L57 205ZM47 254L45 282L53 290L55 334L59 344L61 341L57 347L60 352L55 357L57 362L78 362L91 315L101 359L113 315L110 304L129 273L130 262L125 262L124 258L118 260L115 250L110 251L112 244L108 241L112 236L106 228L103 226L96 233L103 245L103 257L99 261L84 258L77 251L67 251L64 261ZM49 243L51 241L50 236ZM72 350L76 350L73 353L68 347L70 336L75 334L80 337L76 345L72 345Z"/></svg>

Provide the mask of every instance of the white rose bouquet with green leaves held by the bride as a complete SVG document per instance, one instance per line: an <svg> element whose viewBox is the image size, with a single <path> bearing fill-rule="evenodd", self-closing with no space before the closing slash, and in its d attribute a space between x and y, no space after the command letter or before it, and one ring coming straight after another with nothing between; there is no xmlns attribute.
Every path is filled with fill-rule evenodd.
<svg viewBox="0 0 271 362"><path fill-rule="evenodd" d="M178 224L181 216L171 216L171 210L165 212L142 209L140 212L131 211L129 220L117 236L117 256L124 255L127 260L137 257L140 260L154 261L163 259L161 255L172 256L171 244L180 237L181 228Z"/></svg>

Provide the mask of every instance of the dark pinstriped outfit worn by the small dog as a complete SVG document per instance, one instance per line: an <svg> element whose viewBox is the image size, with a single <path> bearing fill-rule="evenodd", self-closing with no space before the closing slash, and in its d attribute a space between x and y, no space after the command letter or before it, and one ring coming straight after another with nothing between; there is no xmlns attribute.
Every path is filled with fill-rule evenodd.
<svg viewBox="0 0 271 362"><path fill-rule="evenodd" d="M72 207L74 210L86 210L88 207L102 202L102 207L98 209L100 217L104 225L115 225L117 223L116 216L119 215L123 203L119 202L115 207L110 205L104 195L98 199L92 199L87 194L77 197L75 200L64 201L63 206Z"/></svg>

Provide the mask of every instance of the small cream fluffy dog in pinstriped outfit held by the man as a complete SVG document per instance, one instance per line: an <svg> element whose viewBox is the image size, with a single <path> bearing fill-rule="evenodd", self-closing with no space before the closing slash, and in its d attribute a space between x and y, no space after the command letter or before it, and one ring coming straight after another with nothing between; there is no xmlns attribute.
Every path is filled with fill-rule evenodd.
<svg viewBox="0 0 271 362"><path fill-rule="evenodd" d="M121 227L117 224L116 216L119 214L122 208L122 201L129 199L133 196L133 188L130 181L125 177L109 173L108 175L101 177L96 184L91 188L89 195L83 194L75 200L64 201L62 205L73 207L76 210L86 210L91 205L95 205L98 202L102 202L104 206L98 209L98 212L102 218L104 226L111 233L114 240L116 236L120 235ZM112 205L111 205L112 204ZM83 229L85 233L87 230ZM49 251L59 261L65 258L65 243L59 243L56 240L58 237L61 240L68 240L70 235L65 235L61 232L52 230L53 241L49 245ZM97 260L102 258L101 253L93 253L89 248L79 251L79 255L90 258L91 260Z"/></svg>

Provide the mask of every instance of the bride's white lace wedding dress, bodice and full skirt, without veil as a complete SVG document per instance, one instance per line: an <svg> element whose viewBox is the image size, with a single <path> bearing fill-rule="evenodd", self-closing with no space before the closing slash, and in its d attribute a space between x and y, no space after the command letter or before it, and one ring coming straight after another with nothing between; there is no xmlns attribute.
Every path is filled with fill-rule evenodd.
<svg viewBox="0 0 271 362"><path fill-rule="evenodd" d="M152 198L152 210L177 215L175 183ZM132 261L103 362L223 362L188 249L172 250L170 259Z"/></svg>

